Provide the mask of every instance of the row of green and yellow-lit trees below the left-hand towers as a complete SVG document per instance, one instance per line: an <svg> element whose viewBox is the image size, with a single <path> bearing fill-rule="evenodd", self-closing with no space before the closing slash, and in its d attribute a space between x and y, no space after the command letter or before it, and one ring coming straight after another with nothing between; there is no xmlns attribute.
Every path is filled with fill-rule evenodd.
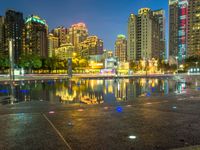
<svg viewBox="0 0 200 150"><path fill-rule="evenodd" d="M49 73L57 70L67 70L67 59L59 59L57 57L41 58L36 54L22 55L19 60L14 64L16 69L23 68L28 73L32 73L37 70L48 70ZM72 69L88 66L87 59L76 56L72 58ZM0 69L6 71L10 67L9 58L6 56L0 56Z"/></svg>

